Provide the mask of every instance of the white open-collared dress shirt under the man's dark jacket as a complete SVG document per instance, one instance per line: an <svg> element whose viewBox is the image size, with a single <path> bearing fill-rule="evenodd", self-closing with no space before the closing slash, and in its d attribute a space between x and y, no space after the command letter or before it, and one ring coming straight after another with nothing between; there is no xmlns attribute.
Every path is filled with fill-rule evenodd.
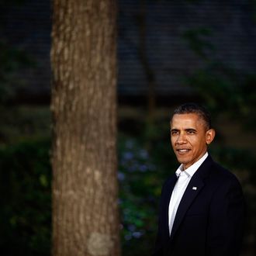
<svg viewBox="0 0 256 256"><path fill-rule="evenodd" d="M178 205L182 200L182 196L185 192L185 189L189 185L189 182L192 176L195 174L195 171L199 168L203 161L206 160L208 153L204 154L199 161L196 161L192 164L189 168L183 169L183 164L181 164L175 174L178 177L178 180L175 184L175 187L171 194L171 200L169 203L169 211L168 211L168 218L169 218L169 233L171 235L171 229L173 223L175 222L175 216L177 213Z"/></svg>

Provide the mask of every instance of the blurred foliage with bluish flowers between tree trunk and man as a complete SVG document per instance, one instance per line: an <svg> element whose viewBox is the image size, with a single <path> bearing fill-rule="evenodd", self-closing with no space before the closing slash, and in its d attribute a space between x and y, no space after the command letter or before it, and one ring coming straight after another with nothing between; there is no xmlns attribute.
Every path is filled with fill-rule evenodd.
<svg viewBox="0 0 256 256"><path fill-rule="evenodd" d="M164 169L163 164L158 164L170 150L162 152L161 143L155 144L154 150L148 150L148 144L143 140L143 137L124 134L119 137L119 205L124 256L147 255L152 252L161 184L164 172L170 174L170 170ZM153 151L154 157L151 155Z"/></svg>

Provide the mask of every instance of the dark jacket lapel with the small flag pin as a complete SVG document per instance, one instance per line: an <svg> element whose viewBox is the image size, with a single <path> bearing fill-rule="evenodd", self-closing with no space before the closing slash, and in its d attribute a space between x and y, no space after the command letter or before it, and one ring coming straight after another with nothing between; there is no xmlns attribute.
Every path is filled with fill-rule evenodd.
<svg viewBox="0 0 256 256"><path fill-rule="evenodd" d="M196 196L199 194L201 189L204 186L204 177L208 175L209 165L213 162L212 158L208 156L206 160L201 164L199 169L195 171L195 174L192 176L189 185L185 189L182 200L178 206L178 210L175 216L175 222L171 230L171 239L175 235L175 232L178 230L179 225L182 223L182 220L185 216L185 213L189 209L189 206L192 204ZM196 188L196 189L195 189Z"/></svg>

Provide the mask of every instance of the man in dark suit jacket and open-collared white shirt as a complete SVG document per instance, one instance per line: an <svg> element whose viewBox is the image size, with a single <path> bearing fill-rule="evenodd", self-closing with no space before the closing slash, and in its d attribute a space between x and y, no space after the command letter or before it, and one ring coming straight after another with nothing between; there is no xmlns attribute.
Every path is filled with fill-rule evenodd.
<svg viewBox="0 0 256 256"><path fill-rule="evenodd" d="M154 256L239 255L244 196L237 178L209 156L214 137L202 106L175 109L171 145L181 165L162 188Z"/></svg>

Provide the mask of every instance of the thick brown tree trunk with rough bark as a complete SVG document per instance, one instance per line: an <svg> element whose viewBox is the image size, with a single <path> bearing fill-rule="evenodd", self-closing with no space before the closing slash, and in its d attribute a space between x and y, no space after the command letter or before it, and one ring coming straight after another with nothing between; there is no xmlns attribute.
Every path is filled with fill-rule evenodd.
<svg viewBox="0 0 256 256"><path fill-rule="evenodd" d="M53 254L117 256L116 2L52 3Z"/></svg>

